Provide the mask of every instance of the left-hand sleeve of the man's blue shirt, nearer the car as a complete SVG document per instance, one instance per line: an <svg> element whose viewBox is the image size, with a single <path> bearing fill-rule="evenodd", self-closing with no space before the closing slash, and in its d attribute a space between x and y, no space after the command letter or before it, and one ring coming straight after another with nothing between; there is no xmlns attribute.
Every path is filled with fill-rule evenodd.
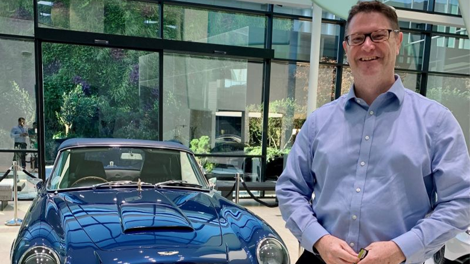
<svg viewBox="0 0 470 264"><path fill-rule="evenodd" d="M314 175L311 172L313 153L309 136L312 115L304 123L287 157L282 175L276 183L276 197L285 227L301 245L312 251L313 244L329 234L318 222L310 200L313 193Z"/></svg>

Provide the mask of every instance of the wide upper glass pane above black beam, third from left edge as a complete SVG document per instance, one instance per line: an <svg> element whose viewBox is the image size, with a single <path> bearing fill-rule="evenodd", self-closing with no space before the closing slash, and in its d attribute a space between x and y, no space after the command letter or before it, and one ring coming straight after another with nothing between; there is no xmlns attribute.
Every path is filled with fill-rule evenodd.
<svg viewBox="0 0 470 264"><path fill-rule="evenodd" d="M164 5L164 38L264 47L266 17Z"/></svg>

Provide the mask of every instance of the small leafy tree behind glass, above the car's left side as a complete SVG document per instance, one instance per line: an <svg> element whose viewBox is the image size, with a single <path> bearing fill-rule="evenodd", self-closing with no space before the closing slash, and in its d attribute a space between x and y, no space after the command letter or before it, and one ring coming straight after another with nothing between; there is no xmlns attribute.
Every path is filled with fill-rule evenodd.
<svg viewBox="0 0 470 264"><path fill-rule="evenodd" d="M86 96L81 85L64 92L62 106L56 116L59 123L65 126L65 135L69 134L73 124L85 125L94 116L97 106L98 98L94 95Z"/></svg>

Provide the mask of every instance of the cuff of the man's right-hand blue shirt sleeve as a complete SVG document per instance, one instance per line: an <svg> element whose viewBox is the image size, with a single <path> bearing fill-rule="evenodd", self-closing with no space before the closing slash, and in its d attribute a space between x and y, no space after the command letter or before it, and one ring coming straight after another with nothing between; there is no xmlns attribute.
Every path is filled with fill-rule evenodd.
<svg viewBox="0 0 470 264"><path fill-rule="evenodd" d="M405 264L424 262L424 245L420 237L413 231L408 231L392 240L405 255Z"/></svg>

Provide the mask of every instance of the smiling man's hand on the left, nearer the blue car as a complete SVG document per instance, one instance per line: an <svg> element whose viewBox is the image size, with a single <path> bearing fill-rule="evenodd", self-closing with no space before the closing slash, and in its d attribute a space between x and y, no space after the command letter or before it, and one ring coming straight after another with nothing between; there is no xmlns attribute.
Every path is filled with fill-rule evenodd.
<svg viewBox="0 0 470 264"><path fill-rule="evenodd" d="M323 236L314 245L327 264L358 263L357 253L345 241L331 235Z"/></svg>

